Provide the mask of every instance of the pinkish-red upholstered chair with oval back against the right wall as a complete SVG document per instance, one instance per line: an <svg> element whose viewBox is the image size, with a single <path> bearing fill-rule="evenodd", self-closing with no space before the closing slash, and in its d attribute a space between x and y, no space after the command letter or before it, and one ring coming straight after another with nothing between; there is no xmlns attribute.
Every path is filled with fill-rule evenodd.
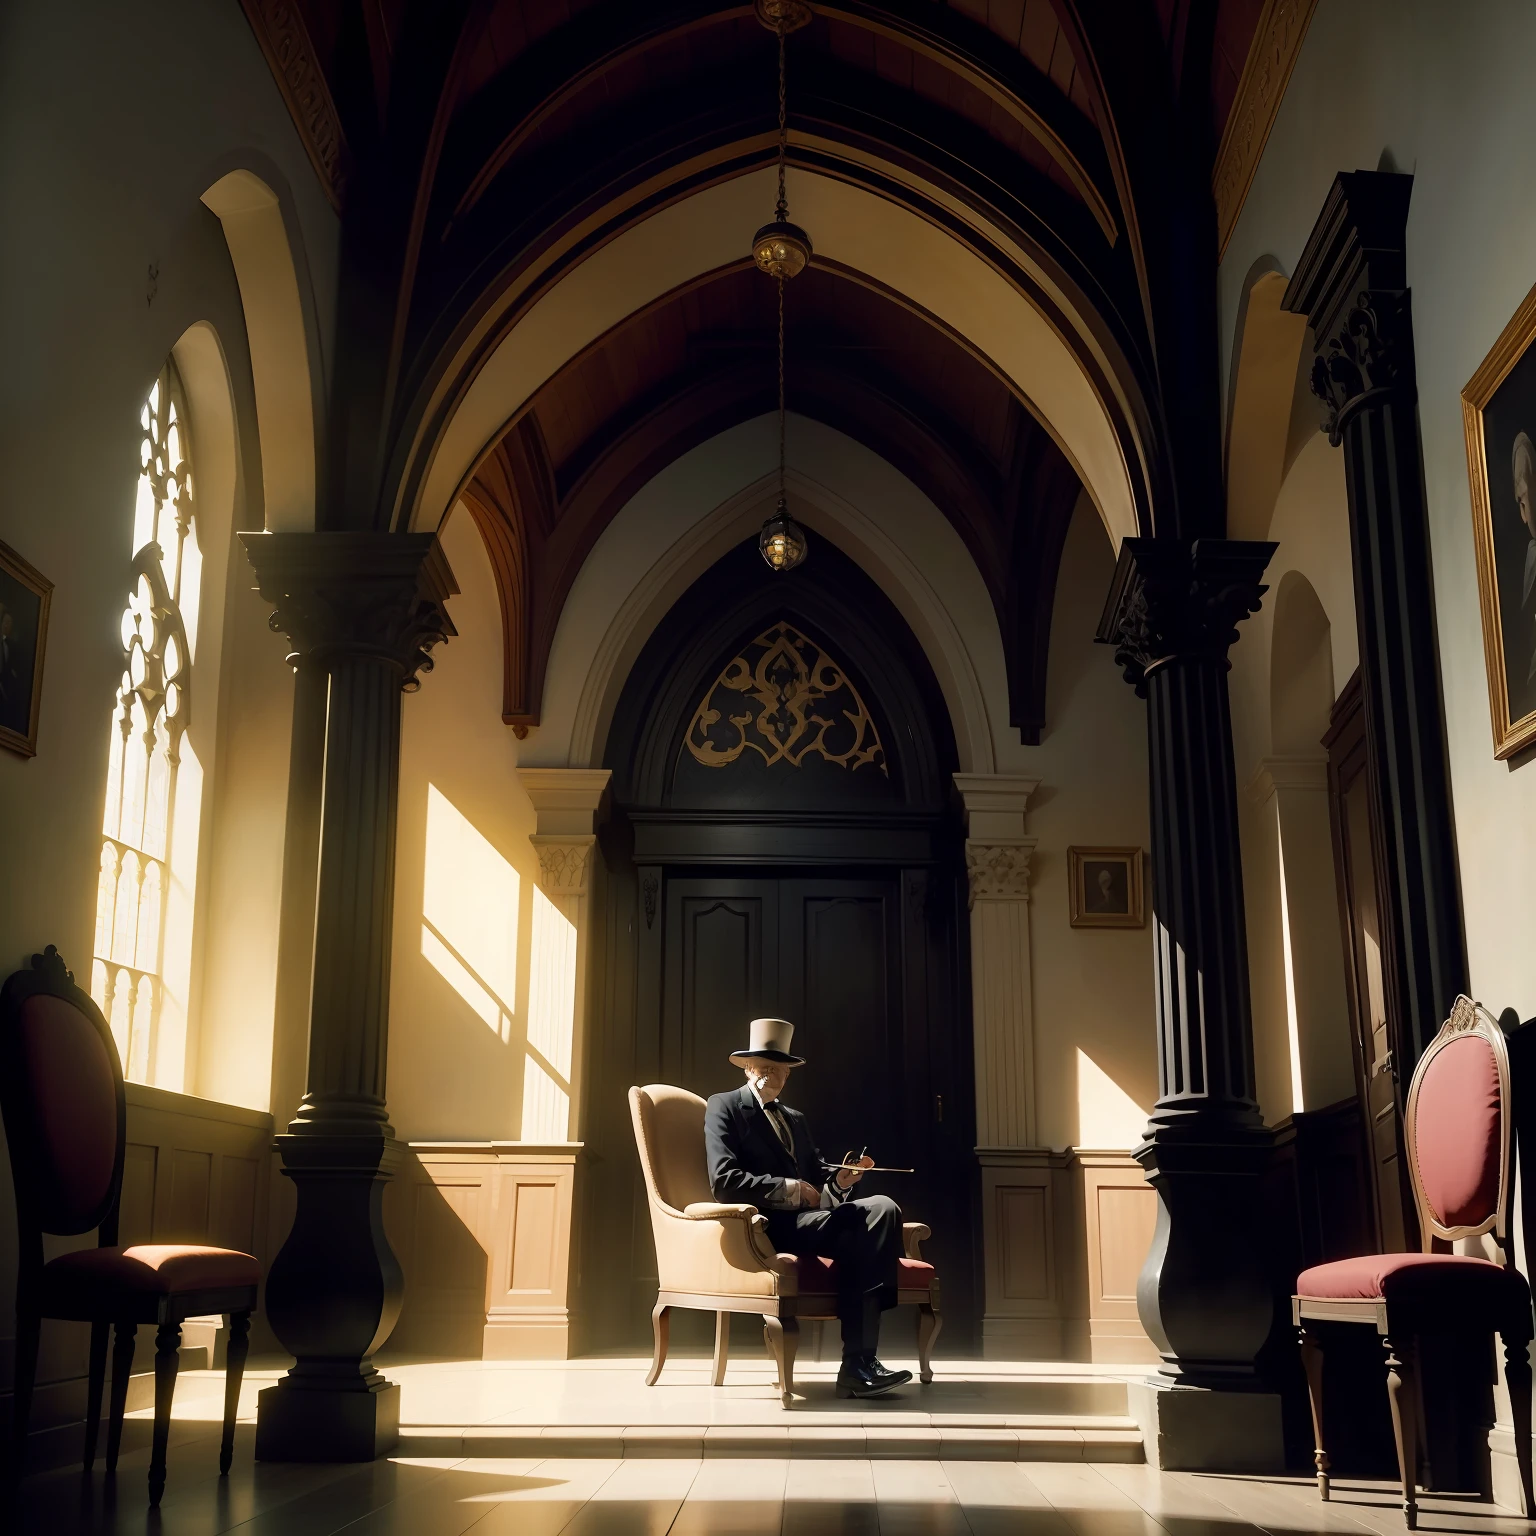
<svg viewBox="0 0 1536 1536"><path fill-rule="evenodd" d="M1402 1513L1418 1525L1421 1333L1485 1329L1504 1339L1514 1410L1514 1453L1531 1507L1531 1292L1510 1263L1510 1058L1498 1020L1458 997L1409 1087L1409 1172L1422 1253L1372 1253L1303 1270L1292 1316L1312 1398L1318 1491L1329 1496L1322 1448L1322 1347L1318 1322L1373 1324L1387 1350L1387 1393L1402 1473ZM1496 1260L1435 1252L1462 1238L1493 1240ZM1313 1324L1309 1327L1309 1324Z"/></svg>

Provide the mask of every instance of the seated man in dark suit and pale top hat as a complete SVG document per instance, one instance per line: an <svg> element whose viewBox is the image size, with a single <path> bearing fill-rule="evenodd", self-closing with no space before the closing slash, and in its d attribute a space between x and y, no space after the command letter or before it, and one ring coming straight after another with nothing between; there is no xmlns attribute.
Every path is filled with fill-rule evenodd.
<svg viewBox="0 0 1536 1536"><path fill-rule="evenodd" d="M902 1207L885 1195L852 1198L869 1157L857 1164L825 1163L805 1115L780 1103L790 1072L794 1025L754 1018L746 1049L733 1051L746 1083L716 1094L705 1109L703 1141L714 1198L756 1206L780 1253L817 1253L837 1264L837 1316L843 1362L837 1396L874 1398L912 1379L876 1359L880 1313L895 1306L902 1256ZM831 1177L828 1177L831 1175Z"/></svg>

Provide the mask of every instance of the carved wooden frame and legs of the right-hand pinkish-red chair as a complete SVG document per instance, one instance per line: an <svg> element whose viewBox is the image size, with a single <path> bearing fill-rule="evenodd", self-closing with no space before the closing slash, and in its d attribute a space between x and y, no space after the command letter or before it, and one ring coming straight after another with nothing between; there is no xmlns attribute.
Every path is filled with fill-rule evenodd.
<svg viewBox="0 0 1536 1536"><path fill-rule="evenodd" d="M1444 1226L1435 1215L1419 1178L1416 1157L1418 1100L1424 1074L1445 1046L1476 1034L1488 1041L1499 1077L1499 1190L1493 1212L1473 1226ZM1458 997L1450 1018L1430 1041L1419 1058L1409 1087L1409 1106L1404 1117L1407 1137L1409 1172L1413 1178L1413 1200L1418 1207L1422 1250L1433 1253L1436 1243L1448 1244L1461 1238L1493 1236L1498 1244L1499 1263L1513 1267L1510 1252L1510 1201L1514 1181L1510 1163L1510 1135L1514 1127L1510 1094L1510 1057L1499 1021L1485 1008L1468 997ZM1455 1332L1465 1329L1468 1319L1452 1309L1409 1309L1390 1306L1384 1298L1319 1299L1315 1296L1290 1298L1290 1315L1301 1341L1301 1361L1307 1373L1307 1396L1312 1404L1312 1432L1316 1450L1313 1461L1318 1470L1318 1493L1324 1501L1330 1496L1329 1456L1322 1447L1322 1342L1309 1322L1355 1322L1372 1324L1387 1352L1387 1395L1392 1402L1392 1430L1398 1444L1398 1470L1402 1478L1402 1516L1409 1530L1418 1528L1418 1473L1419 1473L1419 1421L1422 1404L1416 1369L1418 1339L1422 1333ZM1533 1505L1531 1495L1531 1367L1530 1339L1531 1315L1527 1299L1522 1316L1493 1319L1493 1327L1504 1339L1504 1376L1510 1389L1510 1412L1514 1421L1514 1458L1519 1464L1521 1487L1525 1491L1527 1510Z"/></svg>

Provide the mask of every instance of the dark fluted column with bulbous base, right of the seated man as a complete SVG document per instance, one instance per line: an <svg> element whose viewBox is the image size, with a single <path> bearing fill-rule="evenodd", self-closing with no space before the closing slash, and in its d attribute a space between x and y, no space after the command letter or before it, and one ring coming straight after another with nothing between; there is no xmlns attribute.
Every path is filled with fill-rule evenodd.
<svg viewBox="0 0 1536 1536"><path fill-rule="evenodd" d="M1260 1177L1227 650L1273 544L1126 539L1098 639L1147 700L1158 1103L1137 1161L1158 1192L1137 1286L1163 1356L1132 1392L1147 1459L1281 1470L1279 1398L1253 1358L1273 1316Z"/></svg>

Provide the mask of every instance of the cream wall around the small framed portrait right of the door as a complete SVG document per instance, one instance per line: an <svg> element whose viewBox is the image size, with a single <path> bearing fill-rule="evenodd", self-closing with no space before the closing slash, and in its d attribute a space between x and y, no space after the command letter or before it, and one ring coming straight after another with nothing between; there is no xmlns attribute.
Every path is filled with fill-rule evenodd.
<svg viewBox="0 0 1536 1536"><path fill-rule="evenodd" d="M1080 501L1061 551L1046 731L1023 748L1040 779L1029 802L1038 839L1031 883L1035 1112L1048 1146L1132 1147L1157 1101L1152 929L1072 928L1072 845L1147 846L1146 705L1094 630L1115 558Z"/></svg>

